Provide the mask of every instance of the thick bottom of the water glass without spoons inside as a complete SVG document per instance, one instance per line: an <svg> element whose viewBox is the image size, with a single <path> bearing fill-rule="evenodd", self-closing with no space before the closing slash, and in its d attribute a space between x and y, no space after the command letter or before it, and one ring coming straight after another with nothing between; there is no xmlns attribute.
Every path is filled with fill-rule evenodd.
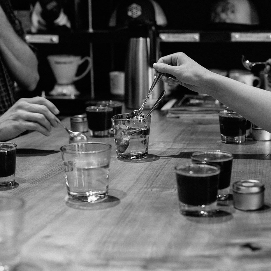
<svg viewBox="0 0 271 271"><path fill-rule="evenodd" d="M73 203L97 203L105 200L108 197L107 191L93 191L89 192L68 192L68 200Z"/></svg>

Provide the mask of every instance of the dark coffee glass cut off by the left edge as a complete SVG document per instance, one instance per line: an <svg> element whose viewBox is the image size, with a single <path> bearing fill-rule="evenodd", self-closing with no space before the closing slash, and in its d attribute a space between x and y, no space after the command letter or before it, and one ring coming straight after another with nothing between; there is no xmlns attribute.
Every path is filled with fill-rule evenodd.
<svg viewBox="0 0 271 271"><path fill-rule="evenodd" d="M15 185L17 145L0 142L0 187Z"/></svg>

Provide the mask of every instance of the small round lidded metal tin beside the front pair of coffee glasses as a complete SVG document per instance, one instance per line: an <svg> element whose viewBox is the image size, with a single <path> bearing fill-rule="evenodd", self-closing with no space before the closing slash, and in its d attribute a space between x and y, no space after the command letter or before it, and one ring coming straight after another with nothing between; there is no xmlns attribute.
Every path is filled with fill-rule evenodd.
<svg viewBox="0 0 271 271"><path fill-rule="evenodd" d="M243 211L258 210L264 205L264 185L258 180L241 180L233 184L233 205Z"/></svg>

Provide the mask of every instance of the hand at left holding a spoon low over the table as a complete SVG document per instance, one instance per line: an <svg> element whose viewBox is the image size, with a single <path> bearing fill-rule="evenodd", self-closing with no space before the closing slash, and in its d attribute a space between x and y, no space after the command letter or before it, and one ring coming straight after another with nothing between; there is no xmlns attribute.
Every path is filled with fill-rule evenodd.
<svg viewBox="0 0 271 271"><path fill-rule="evenodd" d="M59 110L43 97L21 98L0 116L0 141L15 138L27 130L50 136L52 126L57 126L55 114Z"/></svg>

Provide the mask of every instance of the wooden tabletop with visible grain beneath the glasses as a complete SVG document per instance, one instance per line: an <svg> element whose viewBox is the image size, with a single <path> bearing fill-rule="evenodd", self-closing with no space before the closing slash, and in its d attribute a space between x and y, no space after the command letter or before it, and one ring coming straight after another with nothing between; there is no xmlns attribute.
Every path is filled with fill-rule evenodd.
<svg viewBox="0 0 271 271"><path fill-rule="evenodd" d="M69 118L64 120L69 127ZM153 112L149 155L116 158L110 142L110 199L79 210L66 204L59 148L61 127L50 137L37 132L17 144L15 189L0 195L26 201L19 270L271 270L271 142L220 142L218 117L166 118ZM215 218L184 217L178 210L174 167L194 151L234 154L232 180L265 185L265 208L244 212L229 206ZM227 214L227 215L226 215Z"/></svg>

